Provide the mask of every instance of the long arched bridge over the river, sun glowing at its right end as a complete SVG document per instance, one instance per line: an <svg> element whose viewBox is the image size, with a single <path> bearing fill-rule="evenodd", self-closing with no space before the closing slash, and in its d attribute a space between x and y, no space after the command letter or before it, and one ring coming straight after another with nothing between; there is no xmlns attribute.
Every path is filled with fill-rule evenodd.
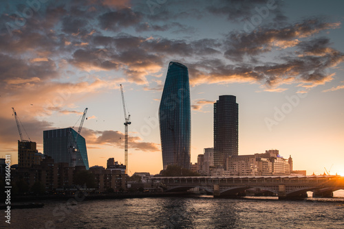
<svg viewBox="0 0 344 229"><path fill-rule="evenodd" d="M333 191L344 189L342 176L189 176L154 177L154 186L167 191L187 191L199 188L212 193L214 197L238 195L247 189L275 193L279 199L307 197L307 191L313 196L332 197Z"/></svg>

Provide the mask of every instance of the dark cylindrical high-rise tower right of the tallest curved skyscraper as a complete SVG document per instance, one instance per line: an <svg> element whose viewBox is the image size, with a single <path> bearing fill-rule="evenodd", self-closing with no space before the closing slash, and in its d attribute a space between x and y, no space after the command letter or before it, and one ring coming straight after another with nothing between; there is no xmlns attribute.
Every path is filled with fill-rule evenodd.
<svg viewBox="0 0 344 229"><path fill-rule="evenodd" d="M228 156L238 155L239 106L234 95L221 95L214 104L214 165L225 168Z"/></svg>

